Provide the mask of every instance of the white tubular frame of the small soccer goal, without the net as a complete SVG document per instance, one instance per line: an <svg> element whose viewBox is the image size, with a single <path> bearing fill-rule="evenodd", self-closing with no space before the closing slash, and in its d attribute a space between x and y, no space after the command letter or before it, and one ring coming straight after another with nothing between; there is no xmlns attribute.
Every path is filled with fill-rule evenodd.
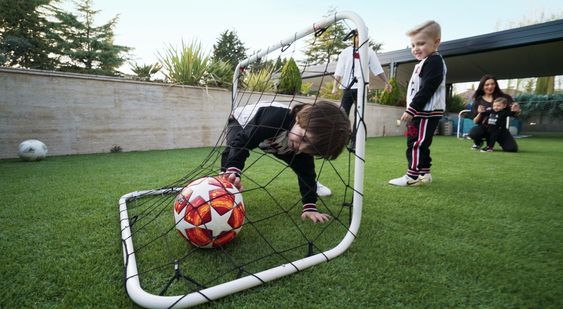
<svg viewBox="0 0 563 309"><path fill-rule="evenodd" d="M248 64L257 61L261 57L274 52L284 46L287 46L294 41L301 39L319 29L326 28L340 20L350 20L356 25L358 30L360 42L367 42L368 40L368 30L364 24L362 18L354 12L343 11L336 13L334 16L322 19L313 26L309 26L306 29L296 32L291 37L280 41L278 44L274 44L268 47L265 51L257 53L252 57L249 57L237 65L233 78L233 92L232 99L233 103L236 102L237 98L237 80L240 74L240 68L246 67ZM369 82L369 71L368 71L368 44L363 44L359 50L360 53L360 66L362 72L367 72L366 74L360 74L358 77L358 98L356 104L356 113L363 118L364 115L364 102L367 92L367 83ZM364 60L365 59L365 60ZM367 81L364 81L364 77ZM348 232L344 235L342 241L334 248L318 253L291 263L282 264L274 268L270 268L259 273L255 273L246 277L242 277L236 280L232 280L226 283L222 283L213 287L209 287L197 292L193 292L186 295L178 296L159 296L146 292L140 285L139 273L137 270L137 262L135 259L135 249L133 247L133 239L131 237L130 220L128 217L127 203L130 200L135 200L140 196L147 195L163 195L163 194L175 194L179 192L182 188L173 189L160 189L160 190L146 190L146 191L136 191L123 195L119 199L119 216L121 222L121 239L123 246L123 257L125 264L125 287L129 297L138 305L147 308L185 308L191 307L198 304L208 302L210 300L216 300L221 297L240 292L251 287L261 285L265 282L269 282L280 277L284 277L311 266L327 262L340 254L344 253L352 244L355 239L360 227L362 204L363 204L363 187L364 187L364 155L365 155L365 136L366 130L365 126L361 124L361 121L356 123L357 136L356 136L356 157L354 165L354 194L353 194L353 208L352 217L350 221L350 227Z"/></svg>

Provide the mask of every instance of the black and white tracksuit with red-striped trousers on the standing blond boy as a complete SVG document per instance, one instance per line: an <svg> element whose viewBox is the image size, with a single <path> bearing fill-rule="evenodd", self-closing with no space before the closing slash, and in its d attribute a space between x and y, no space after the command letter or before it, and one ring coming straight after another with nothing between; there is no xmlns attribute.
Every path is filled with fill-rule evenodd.
<svg viewBox="0 0 563 309"><path fill-rule="evenodd" d="M407 175L430 173L430 145L446 109L446 64L435 52L413 70L407 89L407 110L413 116L407 124Z"/></svg>

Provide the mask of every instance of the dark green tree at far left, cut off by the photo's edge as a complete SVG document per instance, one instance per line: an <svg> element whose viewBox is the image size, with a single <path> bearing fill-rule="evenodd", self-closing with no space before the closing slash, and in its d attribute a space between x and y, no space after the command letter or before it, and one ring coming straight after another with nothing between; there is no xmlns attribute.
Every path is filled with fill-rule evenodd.
<svg viewBox="0 0 563 309"><path fill-rule="evenodd" d="M58 61L53 0L0 0L0 65L51 70Z"/></svg>

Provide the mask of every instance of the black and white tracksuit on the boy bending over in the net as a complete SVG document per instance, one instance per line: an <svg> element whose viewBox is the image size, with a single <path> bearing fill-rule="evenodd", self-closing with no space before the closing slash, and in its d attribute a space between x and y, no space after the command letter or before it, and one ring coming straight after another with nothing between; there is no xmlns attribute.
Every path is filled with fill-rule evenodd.
<svg viewBox="0 0 563 309"><path fill-rule="evenodd" d="M240 174L250 149L260 148L285 161L297 175L303 211L317 211L317 182L313 156L295 153L287 144L287 134L295 115L287 107L247 105L235 109L229 118L227 147L221 157L221 171Z"/></svg>

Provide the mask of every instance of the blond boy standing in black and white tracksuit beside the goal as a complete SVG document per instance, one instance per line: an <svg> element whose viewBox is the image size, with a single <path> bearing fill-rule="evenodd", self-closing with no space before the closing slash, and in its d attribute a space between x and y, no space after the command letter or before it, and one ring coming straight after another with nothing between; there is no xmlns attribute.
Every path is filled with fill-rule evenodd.
<svg viewBox="0 0 563 309"><path fill-rule="evenodd" d="M440 25L431 20L407 32L411 52L420 60L414 67L408 89L407 109L401 120L407 123L407 173L391 179L401 187L432 182L430 145L446 108L446 64L438 53Z"/></svg>

